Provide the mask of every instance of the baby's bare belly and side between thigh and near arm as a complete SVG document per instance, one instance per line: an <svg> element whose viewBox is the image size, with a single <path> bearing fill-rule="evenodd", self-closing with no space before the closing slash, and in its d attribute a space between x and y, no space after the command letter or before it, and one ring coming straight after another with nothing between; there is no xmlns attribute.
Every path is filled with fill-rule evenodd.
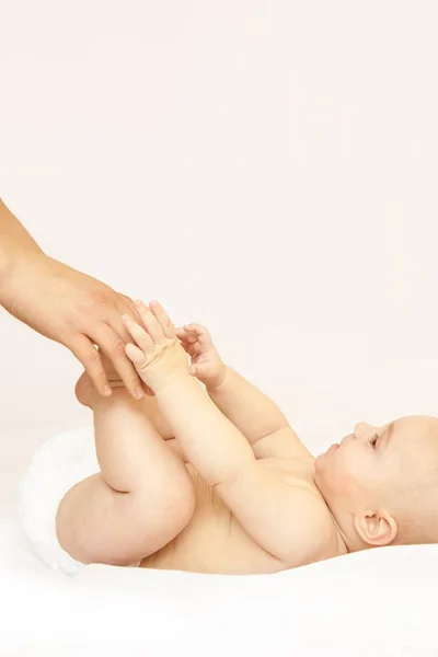
<svg viewBox="0 0 438 657"><path fill-rule="evenodd" d="M196 510L168 545L145 558L143 568L250 575L284 566L243 530L215 491L187 464L196 491Z"/></svg>

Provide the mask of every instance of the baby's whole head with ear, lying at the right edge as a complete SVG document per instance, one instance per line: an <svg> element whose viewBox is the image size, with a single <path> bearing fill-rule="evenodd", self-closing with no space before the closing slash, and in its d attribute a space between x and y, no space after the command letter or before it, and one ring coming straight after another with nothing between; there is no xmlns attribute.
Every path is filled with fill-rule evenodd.
<svg viewBox="0 0 438 657"><path fill-rule="evenodd" d="M438 419L358 424L318 457L315 483L351 551L438 543Z"/></svg>

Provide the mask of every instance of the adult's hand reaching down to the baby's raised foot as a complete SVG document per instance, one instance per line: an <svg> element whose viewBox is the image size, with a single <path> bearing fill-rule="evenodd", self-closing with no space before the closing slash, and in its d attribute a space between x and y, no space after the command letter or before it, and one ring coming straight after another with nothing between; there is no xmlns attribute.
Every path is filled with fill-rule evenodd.
<svg viewBox="0 0 438 657"><path fill-rule="evenodd" d="M68 347L82 362L96 390L111 394L101 356L112 360L136 399L145 387L125 354L130 336L122 315L138 320L129 297L44 254L21 261L8 279L4 307L46 337ZM152 394L147 389L148 394Z"/></svg>

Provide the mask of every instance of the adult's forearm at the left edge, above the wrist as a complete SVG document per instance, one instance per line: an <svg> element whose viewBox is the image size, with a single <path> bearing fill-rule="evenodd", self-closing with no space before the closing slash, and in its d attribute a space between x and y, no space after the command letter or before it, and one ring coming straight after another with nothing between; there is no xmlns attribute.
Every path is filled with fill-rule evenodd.
<svg viewBox="0 0 438 657"><path fill-rule="evenodd" d="M9 281L18 267L42 249L0 199L0 304L9 298Z"/></svg>

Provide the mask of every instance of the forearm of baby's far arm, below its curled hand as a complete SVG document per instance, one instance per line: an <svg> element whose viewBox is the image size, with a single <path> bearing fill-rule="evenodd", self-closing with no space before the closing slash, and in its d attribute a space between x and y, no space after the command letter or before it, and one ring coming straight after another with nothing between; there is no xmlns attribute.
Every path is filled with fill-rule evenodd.
<svg viewBox="0 0 438 657"><path fill-rule="evenodd" d="M223 382L218 388L207 388L207 392L251 445L288 426L278 406L231 368L227 368Z"/></svg>

